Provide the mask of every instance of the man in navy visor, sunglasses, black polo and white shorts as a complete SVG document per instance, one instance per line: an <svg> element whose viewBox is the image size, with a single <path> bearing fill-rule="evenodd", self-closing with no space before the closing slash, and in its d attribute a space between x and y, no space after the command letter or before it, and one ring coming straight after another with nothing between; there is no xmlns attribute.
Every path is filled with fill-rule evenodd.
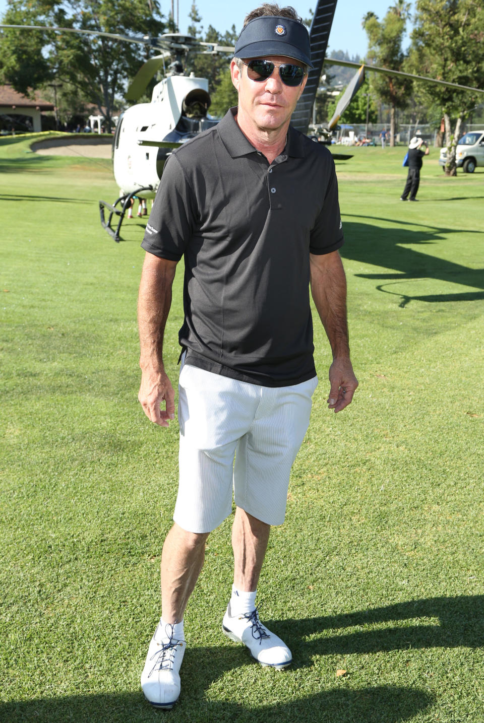
<svg viewBox="0 0 484 723"><path fill-rule="evenodd" d="M309 282L334 356L329 408L341 411L357 388L334 163L289 127L309 66L309 36L292 8L266 4L247 16L231 64L238 107L171 154L143 239L139 398L162 427L174 419L163 333L182 255L185 266L179 492L161 558L161 620L141 676L145 697L162 708L179 696L184 609L205 540L232 513L232 486L223 632L260 664L292 661L260 623L255 594L317 385Z"/></svg>

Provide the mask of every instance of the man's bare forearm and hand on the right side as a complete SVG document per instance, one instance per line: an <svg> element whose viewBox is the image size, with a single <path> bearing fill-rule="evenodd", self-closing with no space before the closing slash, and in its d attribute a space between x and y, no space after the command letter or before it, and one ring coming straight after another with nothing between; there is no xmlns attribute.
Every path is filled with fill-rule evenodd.
<svg viewBox="0 0 484 723"><path fill-rule="evenodd" d="M349 359L347 283L337 251L310 254L311 294L333 352L328 406L335 412L351 403L358 386Z"/></svg>

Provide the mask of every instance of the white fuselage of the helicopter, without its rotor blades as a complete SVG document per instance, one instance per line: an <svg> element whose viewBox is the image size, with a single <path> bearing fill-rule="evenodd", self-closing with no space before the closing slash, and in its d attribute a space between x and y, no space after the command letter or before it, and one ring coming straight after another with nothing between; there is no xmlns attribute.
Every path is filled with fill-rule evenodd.
<svg viewBox="0 0 484 723"><path fill-rule="evenodd" d="M171 150L218 121L207 117L208 80L174 74L119 118L113 141L114 179L122 195L154 198ZM143 190L142 190L143 189Z"/></svg>

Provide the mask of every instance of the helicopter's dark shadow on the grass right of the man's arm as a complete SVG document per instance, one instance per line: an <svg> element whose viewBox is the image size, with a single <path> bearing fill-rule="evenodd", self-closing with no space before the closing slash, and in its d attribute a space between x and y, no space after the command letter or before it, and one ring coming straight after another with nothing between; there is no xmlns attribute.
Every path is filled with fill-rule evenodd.
<svg viewBox="0 0 484 723"><path fill-rule="evenodd" d="M347 215L348 218L351 216ZM368 217L370 218L370 217ZM388 219L376 219L388 221ZM376 288L388 294L401 298L400 306L406 306L409 301L475 301L484 299L484 270L472 269L461 264L433 256L430 249L426 253L417 251L415 247L436 244L451 234L481 234L481 231L462 231L457 228L438 228L428 225L413 224L411 218L396 228L380 228L371 223L346 221L344 223L344 236L346 243L341 248L341 256L345 259L380 266L385 271L381 273L358 273L359 278L368 278L375 281L395 281L395 284L380 284ZM412 223L412 228L409 228ZM388 273L387 269L394 269L396 273ZM396 286L404 281L417 279L435 279L449 283L471 286L483 291L455 294L426 294L412 296L404 294L399 289L390 291L386 286Z"/></svg>

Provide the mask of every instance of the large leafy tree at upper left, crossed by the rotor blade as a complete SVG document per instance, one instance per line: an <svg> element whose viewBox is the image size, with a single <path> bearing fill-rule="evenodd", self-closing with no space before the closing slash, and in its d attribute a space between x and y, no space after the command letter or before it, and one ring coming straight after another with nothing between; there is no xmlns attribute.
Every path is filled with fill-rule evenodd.
<svg viewBox="0 0 484 723"><path fill-rule="evenodd" d="M11 0L4 22L95 30L122 35L164 32L157 0ZM111 38L38 30L5 30L2 40L3 82L28 93L52 80L77 89L98 106L106 122L116 95L147 57L147 48Z"/></svg>

